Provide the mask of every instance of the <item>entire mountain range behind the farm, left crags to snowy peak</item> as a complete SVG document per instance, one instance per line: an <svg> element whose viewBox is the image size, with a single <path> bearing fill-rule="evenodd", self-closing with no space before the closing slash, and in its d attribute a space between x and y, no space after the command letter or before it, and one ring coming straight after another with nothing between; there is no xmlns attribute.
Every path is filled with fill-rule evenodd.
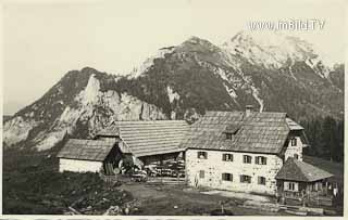
<svg viewBox="0 0 348 220"><path fill-rule="evenodd" d="M221 47L191 37L159 50L126 76L72 70L3 127L3 141L52 147L90 138L112 120L196 120L206 111L286 112L343 118L344 65L294 37L239 33Z"/></svg>

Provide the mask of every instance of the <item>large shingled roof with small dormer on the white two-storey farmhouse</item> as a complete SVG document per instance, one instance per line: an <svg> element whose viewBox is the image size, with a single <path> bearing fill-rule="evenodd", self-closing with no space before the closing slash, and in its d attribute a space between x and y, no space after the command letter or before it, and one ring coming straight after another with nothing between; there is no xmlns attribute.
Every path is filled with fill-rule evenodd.
<svg viewBox="0 0 348 220"><path fill-rule="evenodd" d="M278 154L296 124L286 118L286 113L251 112L246 117L244 112L207 112L190 126L181 146ZM226 140L228 131L232 140Z"/></svg>

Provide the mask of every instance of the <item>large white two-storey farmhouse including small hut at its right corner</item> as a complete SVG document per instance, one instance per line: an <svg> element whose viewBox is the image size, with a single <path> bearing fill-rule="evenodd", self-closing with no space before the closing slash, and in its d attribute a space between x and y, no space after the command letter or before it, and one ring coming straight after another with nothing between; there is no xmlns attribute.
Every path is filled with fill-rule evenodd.
<svg viewBox="0 0 348 220"><path fill-rule="evenodd" d="M247 106L246 112L208 112L181 147L191 186L299 197L327 190L332 177L302 161L307 144L303 128L285 113Z"/></svg>

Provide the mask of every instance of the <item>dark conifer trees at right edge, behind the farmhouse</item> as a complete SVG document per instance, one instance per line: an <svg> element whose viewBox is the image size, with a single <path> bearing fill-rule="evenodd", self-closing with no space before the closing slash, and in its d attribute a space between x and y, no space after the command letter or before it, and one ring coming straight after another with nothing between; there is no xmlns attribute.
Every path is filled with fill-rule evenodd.
<svg viewBox="0 0 348 220"><path fill-rule="evenodd" d="M304 155L316 156L333 161L344 161L344 120L333 117L318 117L300 122L304 127L310 146Z"/></svg>

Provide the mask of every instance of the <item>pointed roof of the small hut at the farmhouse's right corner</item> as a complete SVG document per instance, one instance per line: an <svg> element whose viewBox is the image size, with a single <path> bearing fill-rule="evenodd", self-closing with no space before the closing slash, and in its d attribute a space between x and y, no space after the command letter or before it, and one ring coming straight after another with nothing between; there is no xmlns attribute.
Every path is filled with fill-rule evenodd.
<svg viewBox="0 0 348 220"><path fill-rule="evenodd" d="M304 161L289 157L278 173L275 176L275 179L278 180L293 180L300 182L313 182L316 180L322 180L330 178L333 174L322 170L318 167L314 167Z"/></svg>

